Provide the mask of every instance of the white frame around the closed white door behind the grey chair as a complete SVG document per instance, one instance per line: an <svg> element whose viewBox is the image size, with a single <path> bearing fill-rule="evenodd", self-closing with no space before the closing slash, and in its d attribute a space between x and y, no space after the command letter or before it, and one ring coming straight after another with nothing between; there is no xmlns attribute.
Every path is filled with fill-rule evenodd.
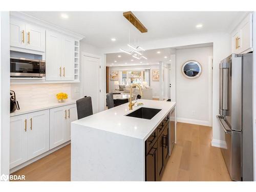
<svg viewBox="0 0 256 192"><path fill-rule="evenodd" d="M102 65L102 57L99 56L99 55L95 55L95 54L91 54L91 53L87 53L87 52L83 52L81 51L81 54L80 54L80 74L79 76L81 77L81 83L80 83L80 98L84 97L83 95L83 78L82 78L82 68L83 68L83 56L86 56L86 57L92 57L92 58L96 58L96 59L99 59L99 68L98 68L98 90L101 90L99 93L98 93L98 109L97 109L97 112L100 112L100 111L103 111L104 110L104 105L103 105L103 101L104 101L104 98L103 98L103 89L102 89L102 85L103 85L103 81L104 81L104 78L103 78L103 65Z"/></svg>

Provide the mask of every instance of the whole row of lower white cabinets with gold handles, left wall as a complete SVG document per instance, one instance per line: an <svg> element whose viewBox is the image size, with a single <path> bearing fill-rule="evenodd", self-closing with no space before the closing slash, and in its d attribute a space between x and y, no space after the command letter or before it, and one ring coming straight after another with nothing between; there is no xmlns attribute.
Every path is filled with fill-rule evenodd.
<svg viewBox="0 0 256 192"><path fill-rule="evenodd" d="M10 168L71 139L76 104L17 115L10 118Z"/></svg>

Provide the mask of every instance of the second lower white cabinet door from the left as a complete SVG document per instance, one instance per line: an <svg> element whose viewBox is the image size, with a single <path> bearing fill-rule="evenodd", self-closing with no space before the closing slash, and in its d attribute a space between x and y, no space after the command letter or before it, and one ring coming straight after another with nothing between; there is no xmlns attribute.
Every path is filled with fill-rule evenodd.
<svg viewBox="0 0 256 192"><path fill-rule="evenodd" d="M49 110L28 114L28 159L49 151Z"/></svg>

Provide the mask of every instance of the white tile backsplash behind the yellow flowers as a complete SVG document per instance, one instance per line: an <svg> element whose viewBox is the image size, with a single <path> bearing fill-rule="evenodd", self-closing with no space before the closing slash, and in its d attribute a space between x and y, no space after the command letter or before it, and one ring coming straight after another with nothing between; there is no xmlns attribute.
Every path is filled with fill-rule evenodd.
<svg viewBox="0 0 256 192"><path fill-rule="evenodd" d="M15 91L20 108L31 104L58 102L56 94L59 92L65 92L69 95L69 99L72 98L70 83L12 84L10 89Z"/></svg>

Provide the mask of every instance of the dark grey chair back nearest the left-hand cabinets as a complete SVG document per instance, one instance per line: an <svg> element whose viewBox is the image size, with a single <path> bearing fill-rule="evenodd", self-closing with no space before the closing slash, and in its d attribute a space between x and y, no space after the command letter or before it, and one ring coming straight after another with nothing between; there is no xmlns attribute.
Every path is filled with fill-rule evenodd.
<svg viewBox="0 0 256 192"><path fill-rule="evenodd" d="M77 118L81 119L93 114L92 98L84 97L76 101Z"/></svg>

